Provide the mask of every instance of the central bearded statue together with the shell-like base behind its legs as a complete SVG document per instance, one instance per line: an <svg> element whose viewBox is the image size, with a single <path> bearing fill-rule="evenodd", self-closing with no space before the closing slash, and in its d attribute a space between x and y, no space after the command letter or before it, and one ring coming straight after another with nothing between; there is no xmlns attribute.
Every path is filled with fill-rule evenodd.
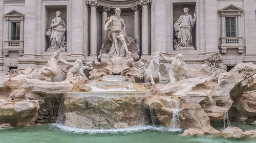
<svg viewBox="0 0 256 143"><path fill-rule="evenodd" d="M126 36L124 20L120 14L121 10L116 8L115 15L105 20L104 30L109 31L109 39L102 44L99 57L101 54L107 54L110 58L125 57L131 53L136 61L139 59L139 45L134 38Z"/></svg>

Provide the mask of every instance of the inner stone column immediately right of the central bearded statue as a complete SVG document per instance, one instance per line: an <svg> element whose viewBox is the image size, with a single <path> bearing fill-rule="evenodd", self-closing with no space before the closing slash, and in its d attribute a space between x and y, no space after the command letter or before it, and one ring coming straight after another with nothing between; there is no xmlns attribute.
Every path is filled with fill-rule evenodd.
<svg viewBox="0 0 256 143"><path fill-rule="evenodd" d="M140 45L140 10L141 7L139 5L133 6L132 10L134 10L134 37L136 38L136 43Z"/></svg>

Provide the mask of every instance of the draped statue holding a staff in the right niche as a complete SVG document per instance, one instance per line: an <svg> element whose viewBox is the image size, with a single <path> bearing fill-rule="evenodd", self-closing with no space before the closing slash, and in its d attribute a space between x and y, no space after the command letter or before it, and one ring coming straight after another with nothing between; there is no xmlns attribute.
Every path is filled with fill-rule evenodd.
<svg viewBox="0 0 256 143"><path fill-rule="evenodd" d="M196 24L196 13L194 13L194 18L192 18L188 14L188 8L184 8L183 11L184 14L174 24L175 36L177 37L177 43L174 43L174 47L176 50L194 50L191 32Z"/></svg>

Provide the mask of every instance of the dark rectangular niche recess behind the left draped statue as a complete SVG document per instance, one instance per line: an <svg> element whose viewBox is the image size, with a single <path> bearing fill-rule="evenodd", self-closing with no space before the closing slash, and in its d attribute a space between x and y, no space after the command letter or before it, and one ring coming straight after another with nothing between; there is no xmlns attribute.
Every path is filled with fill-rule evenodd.
<svg viewBox="0 0 256 143"><path fill-rule="evenodd" d="M61 11L61 19L65 22L65 24L67 25L67 6L46 6L45 7L45 33L48 31L49 26L52 23L52 19L56 17L56 11ZM68 27L68 26L67 26ZM66 32L66 39L65 41L67 42L67 32ZM45 36L45 50L47 51L47 49L51 46L51 41L48 38L48 36Z"/></svg>

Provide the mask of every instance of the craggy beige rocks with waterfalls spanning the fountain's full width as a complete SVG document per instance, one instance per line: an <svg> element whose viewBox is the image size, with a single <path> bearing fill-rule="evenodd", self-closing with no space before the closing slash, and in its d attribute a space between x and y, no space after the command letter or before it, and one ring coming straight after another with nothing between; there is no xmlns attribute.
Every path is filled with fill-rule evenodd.
<svg viewBox="0 0 256 143"><path fill-rule="evenodd" d="M112 72L109 62L103 62L100 64L106 68L98 69L98 73ZM142 63L128 60L125 64ZM137 67L135 71L144 70L143 66ZM32 73L27 69L16 76L0 76L0 124L30 126L55 122L62 115L62 123L72 127L155 125L187 128L183 135L195 135L219 134L210 121L223 120L227 112L230 119L255 120L256 66L252 63L239 64L226 73L165 85L133 83L121 75L115 80L113 75L103 76L108 74L97 77L102 81L90 83L82 76L49 82L34 79ZM247 135L241 137L255 136L253 131L243 134Z"/></svg>

